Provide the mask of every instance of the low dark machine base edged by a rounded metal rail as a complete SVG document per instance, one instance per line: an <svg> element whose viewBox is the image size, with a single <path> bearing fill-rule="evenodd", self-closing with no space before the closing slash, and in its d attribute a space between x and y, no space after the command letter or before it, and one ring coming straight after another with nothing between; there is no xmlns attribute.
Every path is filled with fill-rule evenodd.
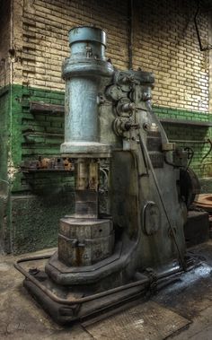
<svg viewBox="0 0 212 340"><path fill-rule="evenodd" d="M23 259L18 261L20 262L27 261ZM24 287L60 325L99 317L102 312L107 315L116 312L121 306L126 306L126 303L144 299L167 284L179 280L179 276L184 273L181 266L176 266L176 263L175 266L166 266L165 270L161 268L160 271L147 268L143 273L137 273L134 280L129 283L108 291L92 292L85 291L84 287L78 285L71 287L58 285L44 271L32 269L27 272L18 263L15 267L25 276ZM187 271L197 265L193 259L186 260Z"/></svg>

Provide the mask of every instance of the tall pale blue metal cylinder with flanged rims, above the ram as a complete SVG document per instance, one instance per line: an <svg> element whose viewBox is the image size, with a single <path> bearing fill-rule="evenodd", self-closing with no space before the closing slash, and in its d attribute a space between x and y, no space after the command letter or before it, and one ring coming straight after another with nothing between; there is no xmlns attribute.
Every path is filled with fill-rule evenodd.
<svg viewBox="0 0 212 340"><path fill-rule="evenodd" d="M61 153L77 157L107 157L110 145L100 143L98 94L113 67L105 60L106 34L93 27L69 31L71 56L63 65L66 80L65 143Z"/></svg>

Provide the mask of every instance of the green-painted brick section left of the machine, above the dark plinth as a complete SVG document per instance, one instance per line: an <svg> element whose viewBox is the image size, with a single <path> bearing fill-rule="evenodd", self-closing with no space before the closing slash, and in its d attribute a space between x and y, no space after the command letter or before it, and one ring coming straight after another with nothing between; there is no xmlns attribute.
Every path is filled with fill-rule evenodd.
<svg viewBox="0 0 212 340"><path fill-rule="evenodd" d="M22 85L13 85L13 131L12 158L16 170L13 176L13 193L47 193L49 187L63 191L73 188L73 177L69 172L26 173L20 168L23 161L59 157L59 147L64 137L64 115L32 113L31 101L64 105L64 92L40 90ZM26 134L27 132L27 134Z"/></svg>

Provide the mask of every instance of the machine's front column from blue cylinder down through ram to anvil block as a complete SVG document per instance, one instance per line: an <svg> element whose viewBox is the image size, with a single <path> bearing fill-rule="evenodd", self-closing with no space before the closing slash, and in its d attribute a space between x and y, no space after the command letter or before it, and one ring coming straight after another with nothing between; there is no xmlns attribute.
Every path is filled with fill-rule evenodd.
<svg viewBox="0 0 212 340"><path fill-rule="evenodd" d="M91 266L110 257L114 247L111 219L99 216L99 163L110 157L100 143L98 95L113 67L105 60L105 32L78 27L69 32L71 56L63 65L66 80L65 142L61 153L75 163L75 214L60 220L58 259L66 266Z"/></svg>

